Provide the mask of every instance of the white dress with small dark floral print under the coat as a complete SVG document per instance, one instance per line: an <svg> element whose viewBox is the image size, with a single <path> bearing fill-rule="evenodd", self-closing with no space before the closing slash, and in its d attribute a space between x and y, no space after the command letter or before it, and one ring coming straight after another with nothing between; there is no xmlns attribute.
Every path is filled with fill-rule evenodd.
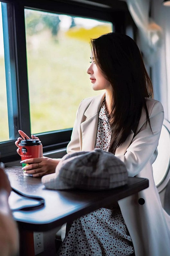
<svg viewBox="0 0 170 256"><path fill-rule="evenodd" d="M99 111L95 148L108 151L111 139L109 117L103 100ZM118 204L101 208L74 220L57 256L129 256L133 244Z"/></svg>

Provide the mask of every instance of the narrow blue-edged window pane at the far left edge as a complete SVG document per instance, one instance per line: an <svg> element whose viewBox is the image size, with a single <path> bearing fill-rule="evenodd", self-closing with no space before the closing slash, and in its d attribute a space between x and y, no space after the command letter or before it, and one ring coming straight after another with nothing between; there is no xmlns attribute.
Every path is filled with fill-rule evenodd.
<svg viewBox="0 0 170 256"><path fill-rule="evenodd" d="M0 2L0 141L15 138L18 122L12 8Z"/></svg>

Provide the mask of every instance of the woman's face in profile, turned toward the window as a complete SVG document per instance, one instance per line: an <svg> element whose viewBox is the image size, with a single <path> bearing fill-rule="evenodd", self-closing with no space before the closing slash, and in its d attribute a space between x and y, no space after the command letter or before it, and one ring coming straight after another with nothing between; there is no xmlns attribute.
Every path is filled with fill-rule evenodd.
<svg viewBox="0 0 170 256"><path fill-rule="evenodd" d="M111 87L108 80L106 80L105 77L103 77L102 72L97 68L97 65L94 62L93 54L91 54L90 57L91 65L87 69L87 74L90 75L90 80L92 83L92 88L94 91L103 90L103 89L109 89Z"/></svg>

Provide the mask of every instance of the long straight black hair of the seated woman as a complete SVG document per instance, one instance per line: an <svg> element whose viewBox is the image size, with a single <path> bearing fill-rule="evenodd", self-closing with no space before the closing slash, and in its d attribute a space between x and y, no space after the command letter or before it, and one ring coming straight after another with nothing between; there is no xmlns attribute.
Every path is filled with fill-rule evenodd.
<svg viewBox="0 0 170 256"><path fill-rule="evenodd" d="M109 151L115 153L131 130L135 132L142 108L150 125L145 97L153 96L152 82L139 48L131 37L108 33L91 39L90 44L97 67L113 88Z"/></svg>

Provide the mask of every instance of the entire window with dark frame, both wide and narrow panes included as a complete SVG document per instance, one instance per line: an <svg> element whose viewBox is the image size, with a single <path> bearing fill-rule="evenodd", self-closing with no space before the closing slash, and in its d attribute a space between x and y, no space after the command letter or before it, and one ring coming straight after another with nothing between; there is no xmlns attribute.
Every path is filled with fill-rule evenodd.
<svg viewBox="0 0 170 256"><path fill-rule="evenodd" d="M105 7L0 0L0 153L5 163L20 159L14 143L18 129L38 136L43 152L67 147L80 101L101 93L92 90L86 74L90 38L125 31L125 11Z"/></svg>

